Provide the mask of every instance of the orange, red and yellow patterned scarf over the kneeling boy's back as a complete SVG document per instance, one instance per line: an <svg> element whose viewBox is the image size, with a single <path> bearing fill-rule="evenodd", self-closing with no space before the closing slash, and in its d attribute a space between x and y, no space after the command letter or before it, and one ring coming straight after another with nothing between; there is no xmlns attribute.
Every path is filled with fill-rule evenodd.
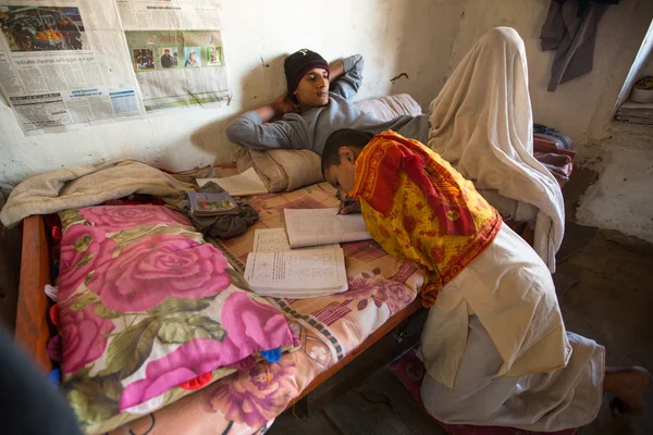
<svg viewBox="0 0 653 435"><path fill-rule="evenodd" d="M502 224L471 182L438 153L392 130L374 136L358 156L349 196L360 202L374 240L426 273L426 307L492 244Z"/></svg>

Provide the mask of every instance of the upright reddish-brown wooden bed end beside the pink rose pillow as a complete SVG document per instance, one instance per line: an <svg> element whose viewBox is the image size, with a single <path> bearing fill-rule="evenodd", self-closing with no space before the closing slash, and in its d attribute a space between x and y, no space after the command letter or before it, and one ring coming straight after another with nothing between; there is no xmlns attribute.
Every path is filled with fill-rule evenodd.
<svg viewBox="0 0 653 435"><path fill-rule="evenodd" d="M50 284L50 254L46 228L40 215L23 221L23 256L16 310L15 338L46 373L52 370L47 343L49 301L45 294Z"/></svg>

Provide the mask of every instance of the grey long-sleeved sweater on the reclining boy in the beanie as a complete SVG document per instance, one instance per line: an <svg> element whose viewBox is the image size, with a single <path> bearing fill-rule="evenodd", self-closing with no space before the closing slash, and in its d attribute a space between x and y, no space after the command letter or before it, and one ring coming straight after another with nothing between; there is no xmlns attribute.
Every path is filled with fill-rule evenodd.
<svg viewBox="0 0 653 435"><path fill-rule="evenodd" d="M429 116L397 116L383 122L365 113L350 101L362 83L362 57L344 60L345 73L331 84L329 104L305 113L287 113L282 120L263 123L255 111L238 116L227 128L226 137L234 144L254 149L309 149L322 153L329 135L341 128L356 128L373 134L393 129L398 134L427 142Z"/></svg>

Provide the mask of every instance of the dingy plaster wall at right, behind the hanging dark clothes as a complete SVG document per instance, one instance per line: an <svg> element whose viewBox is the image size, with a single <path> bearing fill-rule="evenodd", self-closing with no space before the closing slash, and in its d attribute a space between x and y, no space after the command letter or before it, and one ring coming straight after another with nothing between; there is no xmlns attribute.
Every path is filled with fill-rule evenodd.
<svg viewBox="0 0 653 435"><path fill-rule="evenodd" d="M523 38L533 117L569 135L577 164L599 172L581 198L576 220L653 241L653 129L612 120L615 102L653 18L653 2L608 7L599 24L590 74L546 90L554 52L540 50L550 0L467 0L449 74L488 29L510 26ZM569 216L574 219L574 216Z"/></svg>

